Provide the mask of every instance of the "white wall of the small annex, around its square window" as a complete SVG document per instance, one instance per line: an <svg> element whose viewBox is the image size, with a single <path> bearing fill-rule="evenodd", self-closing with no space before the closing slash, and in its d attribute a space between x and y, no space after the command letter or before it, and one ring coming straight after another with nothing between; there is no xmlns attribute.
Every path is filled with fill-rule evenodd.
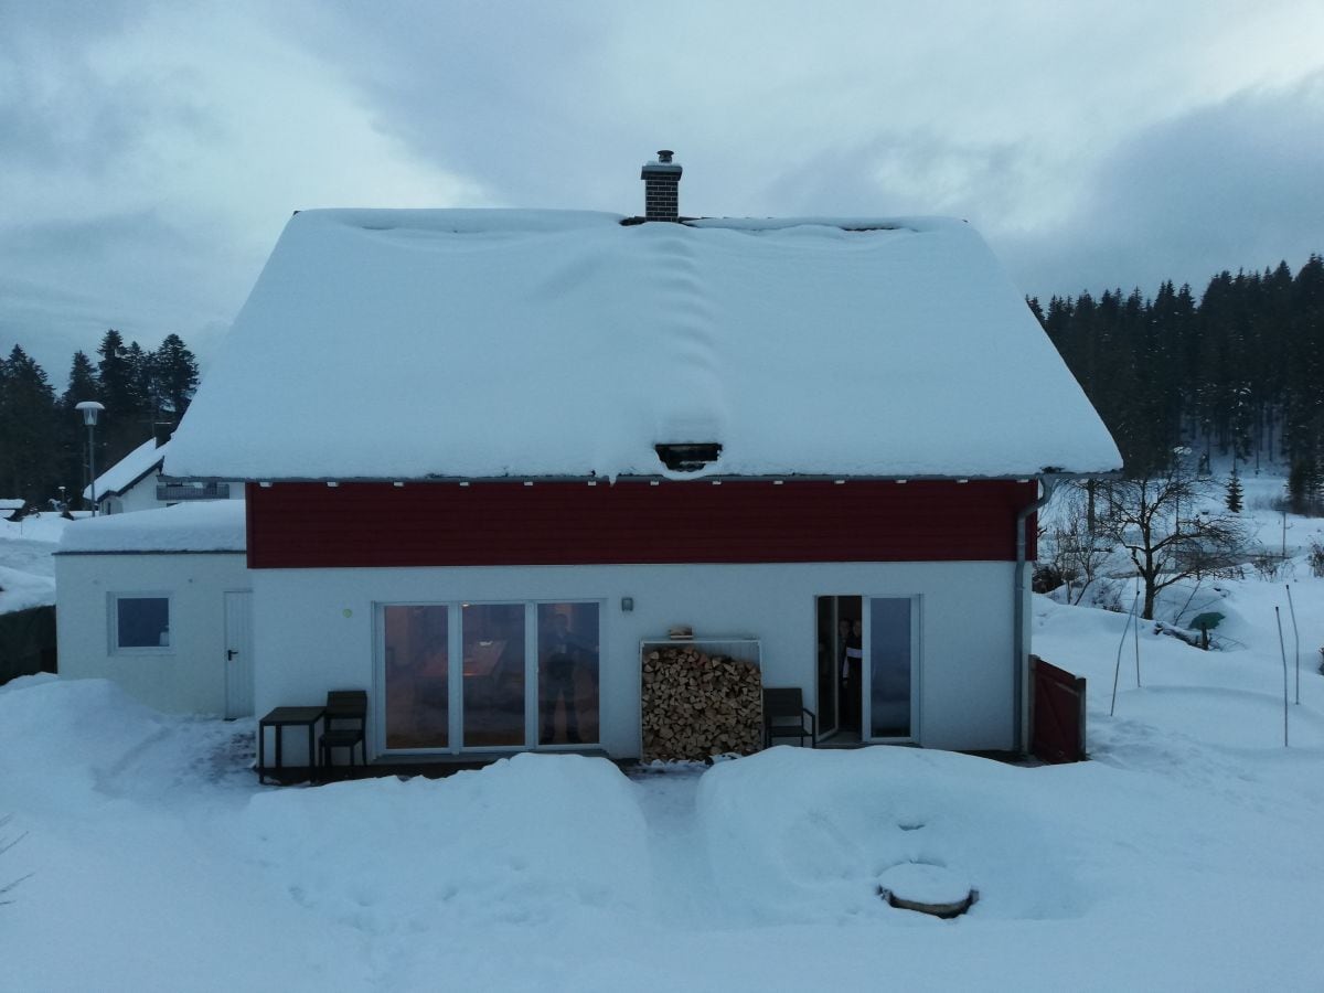
<svg viewBox="0 0 1324 993"><path fill-rule="evenodd" d="M242 552L56 555L60 674L113 679L172 714L225 712L226 591L250 588ZM169 646L114 649L114 596L168 596Z"/></svg>

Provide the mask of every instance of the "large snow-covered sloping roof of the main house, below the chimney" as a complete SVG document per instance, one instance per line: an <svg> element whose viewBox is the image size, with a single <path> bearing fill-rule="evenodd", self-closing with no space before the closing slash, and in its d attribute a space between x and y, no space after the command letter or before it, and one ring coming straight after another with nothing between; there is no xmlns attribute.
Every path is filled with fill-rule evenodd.
<svg viewBox="0 0 1324 993"><path fill-rule="evenodd" d="M1117 449L949 220L310 211L166 459L246 479L1033 475Z"/></svg>

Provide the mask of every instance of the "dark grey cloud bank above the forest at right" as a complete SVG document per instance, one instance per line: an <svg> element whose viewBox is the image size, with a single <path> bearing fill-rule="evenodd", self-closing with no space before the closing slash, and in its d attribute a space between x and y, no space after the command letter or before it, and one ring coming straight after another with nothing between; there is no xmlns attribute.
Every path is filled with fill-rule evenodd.
<svg viewBox="0 0 1324 993"><path fill-rule="evenodd" d="M1057 225L990 241L1029 293L1200 293L1227 269L1324 252L1324 73L1148 127L1100 162Z"/></svg>

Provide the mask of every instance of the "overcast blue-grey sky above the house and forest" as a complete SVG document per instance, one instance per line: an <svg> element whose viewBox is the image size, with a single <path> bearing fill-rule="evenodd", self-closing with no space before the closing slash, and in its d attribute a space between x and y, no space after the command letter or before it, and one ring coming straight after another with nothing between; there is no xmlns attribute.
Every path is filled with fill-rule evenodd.
<svg viewBox="0 0 1324 993"><path fill-rule="evenodd" d="M1324 252L1324 3L0 0L0 348L205 360L315 207L968 218L1029 294Z"/></svg>

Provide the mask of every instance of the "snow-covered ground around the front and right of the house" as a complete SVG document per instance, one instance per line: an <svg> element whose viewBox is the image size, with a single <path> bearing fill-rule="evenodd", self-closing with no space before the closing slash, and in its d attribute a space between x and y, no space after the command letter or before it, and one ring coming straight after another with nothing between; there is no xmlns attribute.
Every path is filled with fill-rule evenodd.
<svg viewBox="0 0 1324 993"><path fill-rule="evenodd" d="M1275 605L1292 700L1298 638L1253 572L1196 591L1226 616L1207 653L1035 597L1035 651L1090 681L1092 761L1063 767L524 755L263 788L252 720L24 678L0 687L0 886L30 874L0 896L0 988L1319 989L1324 580L1294 569L1287 748ZM879 899L920 871L978 903Z"/></svg>

